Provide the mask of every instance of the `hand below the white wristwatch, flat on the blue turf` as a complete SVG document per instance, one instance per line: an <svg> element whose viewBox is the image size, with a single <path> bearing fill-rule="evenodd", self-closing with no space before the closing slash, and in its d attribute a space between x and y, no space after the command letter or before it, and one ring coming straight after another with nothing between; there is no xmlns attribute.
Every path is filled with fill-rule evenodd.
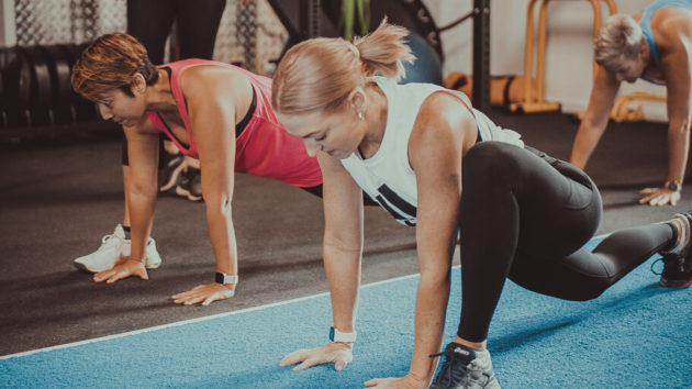
<svg viewBox="0 0 692 389"><path fill-rule="evenodd" d="M354 360L351 343L332 342L322 347L295 351L281 359L279 366L299 364L293 370L302 370L323 364L334 364L334 369L341 371Z"/></svg>

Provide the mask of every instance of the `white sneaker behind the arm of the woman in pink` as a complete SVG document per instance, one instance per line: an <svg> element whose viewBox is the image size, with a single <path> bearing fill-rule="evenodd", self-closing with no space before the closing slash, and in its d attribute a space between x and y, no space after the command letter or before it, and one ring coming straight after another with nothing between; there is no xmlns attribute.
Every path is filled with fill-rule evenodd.
<svg viewBox="0 0 692 389"><path fill-rule="evenodd" d="M112 269L118 259L130 255L130 240L125 238L125 231L121 224L115 226L112 235L103 236L101 242L99 249L75 259L75 267L86 273L99 273ZM146 268L155 269L161 265L161 257L156 251L156 242L152 237L146 245L145 254Z"/></svg>

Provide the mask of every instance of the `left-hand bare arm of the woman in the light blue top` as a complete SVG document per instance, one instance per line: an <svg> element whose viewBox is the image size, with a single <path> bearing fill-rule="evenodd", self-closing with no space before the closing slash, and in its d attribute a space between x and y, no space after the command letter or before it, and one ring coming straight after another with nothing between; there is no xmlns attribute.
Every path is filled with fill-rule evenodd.
<svg viewBox="0 0 692 389"><path fill-rule="evenodd" d="M620 82L615 77L599 66L591 89L589 107L579 125L570 157L570 163L580 169L587 166L591 154L605 132L617 89L620 89Z"/></svg>

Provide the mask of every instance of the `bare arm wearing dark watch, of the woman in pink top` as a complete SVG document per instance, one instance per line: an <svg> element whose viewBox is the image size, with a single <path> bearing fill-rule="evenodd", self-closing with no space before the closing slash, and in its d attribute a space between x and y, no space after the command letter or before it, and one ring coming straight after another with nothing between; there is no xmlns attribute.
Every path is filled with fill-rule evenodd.
<svg viewBox="0 0 692 389"><path fill-rule="evenodd" d="M202 196L207 226L214 251L216 270L237 275L237 246L233 227L235 163L235 108L242 92L252 93L242 75L219 74L217 69L191 68L182 76L190 127L200 155ZM211 275L210 275L211 279ZM235 285L212 282L174 296L177 303L207 305L233 297Z"/></svg>

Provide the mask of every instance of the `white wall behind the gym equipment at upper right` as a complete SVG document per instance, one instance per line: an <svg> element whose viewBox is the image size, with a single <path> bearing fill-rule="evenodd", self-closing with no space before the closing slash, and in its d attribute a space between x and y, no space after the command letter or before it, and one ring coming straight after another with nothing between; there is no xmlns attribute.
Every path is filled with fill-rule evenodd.
<svg viewBox="0 0 692 389"><path fill-rule="evenodd" d="M438 26L468 13L472 0L424 0ZM621 13L636 13L651 0L615 0ZM538 2L539 3L539 2ZM538 7L534 10L538 24ZM521 75L524 71L524 44L528 0L490 0L490 74ZM607 7L601 2L604 19ZM548 5L546 45L546 99L558 101L562 111L574 113L589 103L593 63L593 9L587 0L553 0ZM537 32L534 33L534 36ZM444 74L472 71L472 21L469 19L442 35L445 51ZM534 59L535 68L535 59ZM647 91L665 96L666 89L638 80L624 84L621 93ZM663 103L637 102L644 105L647 120L666 121Z"/></svg>

